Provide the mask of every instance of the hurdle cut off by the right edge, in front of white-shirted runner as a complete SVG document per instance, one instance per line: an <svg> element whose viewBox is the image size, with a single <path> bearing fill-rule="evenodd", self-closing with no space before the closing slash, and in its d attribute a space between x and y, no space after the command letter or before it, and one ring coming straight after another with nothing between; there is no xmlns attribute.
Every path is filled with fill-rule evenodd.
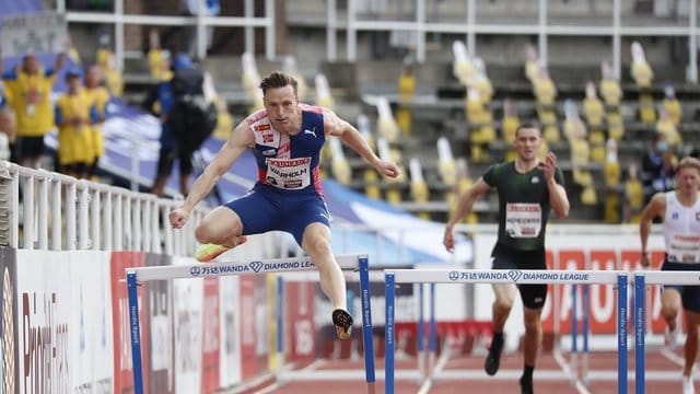
<svg viewBox="0 0 700 394"><path fill-rule="evenodd" d="M634 392L645 391L646 285L700 286L700 271L634 271Z"/></svg>

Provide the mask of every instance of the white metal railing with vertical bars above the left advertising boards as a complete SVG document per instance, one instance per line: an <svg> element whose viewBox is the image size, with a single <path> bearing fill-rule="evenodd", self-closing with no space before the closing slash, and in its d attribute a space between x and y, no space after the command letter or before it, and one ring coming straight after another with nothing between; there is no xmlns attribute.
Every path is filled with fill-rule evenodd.
<svg viewBox="0 0 700 394"><path fill-rule="evenodd" d="M168 224L180 201L0 162L1 246L143 251L192 255L197 208L182 230Z"/></svg>

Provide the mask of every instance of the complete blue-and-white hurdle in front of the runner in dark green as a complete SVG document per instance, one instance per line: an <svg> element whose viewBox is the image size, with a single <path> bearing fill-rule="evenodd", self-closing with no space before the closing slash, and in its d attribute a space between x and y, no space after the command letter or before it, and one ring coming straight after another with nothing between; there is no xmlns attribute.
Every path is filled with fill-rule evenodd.
<svg viewBox="0 0 700 394"><path fill-rule="evenodd" d="M513 283L617 286L618 393L627 394L627 289L629 275L621 270L525 270L525 269L385 269L385 393L394 394L395 290L396 283ZM429 384L434 374L429 378Z"/></svg>

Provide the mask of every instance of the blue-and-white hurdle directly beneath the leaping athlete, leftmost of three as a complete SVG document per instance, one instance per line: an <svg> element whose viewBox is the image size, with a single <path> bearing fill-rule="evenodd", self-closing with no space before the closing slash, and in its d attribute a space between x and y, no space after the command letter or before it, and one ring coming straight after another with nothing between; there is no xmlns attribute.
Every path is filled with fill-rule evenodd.
<svg viewBox="0 0 700 394"><path fill-rule="evenodd" d="M365 381L368 393L374 393L374 344L372 338L372 309L370 293L369 258L365 254L337 255L341 269L359 271L362 305L362 335L364 344ZM129 327L131 334L131 360L133 368L133 392L143 393L143 370L141 360L141 328L139 322L138 287L152 280L195 279L231 275L260 275L312 270L316 266L311 257L272 258L249 262L217 262L211 264L189 264L155 267L126 268L129 303ZM280 308L283 303L277 303ZM281 331L281 327L280 329ZM278 337L281 340L281 337ZM279 347L281 349L281 347Z"/></svg>

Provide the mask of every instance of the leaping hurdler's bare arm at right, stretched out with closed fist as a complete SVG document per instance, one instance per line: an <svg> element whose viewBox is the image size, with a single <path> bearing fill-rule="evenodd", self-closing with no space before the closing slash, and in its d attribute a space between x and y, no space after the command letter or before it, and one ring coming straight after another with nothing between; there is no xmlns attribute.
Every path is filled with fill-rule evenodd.
<svg viewBox="0 0 700 394"><path fill-rule="evenodd" d="M380 159L357 128L326 108L324 108L324 129L327 134L339 137L343 143L358 152L380 174L390 177L398 176L399 171L395 163Z"/></svg>

